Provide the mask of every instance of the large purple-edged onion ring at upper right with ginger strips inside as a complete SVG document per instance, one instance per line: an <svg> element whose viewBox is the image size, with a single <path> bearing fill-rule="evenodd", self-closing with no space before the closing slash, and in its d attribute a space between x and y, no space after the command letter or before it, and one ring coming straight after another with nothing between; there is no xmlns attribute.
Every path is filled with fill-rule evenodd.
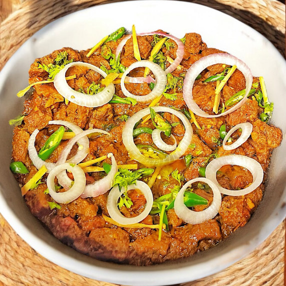
<svg viewBox="0 0 286 286"><path fill-rule="evenodd" d="M197 75L206 67L216 64L216 63L224 63L229 65L236 65L237 68L243 73L245 80L246 80L246 87L245 87L245 95L237 104L235 104L233 107L229 108L228 110L225 110L221 114L216 115L210 115L204 112L199 108L199 106L195 103L192 96L192 87L193 83L195 81L195 78ZM227 54L227 53L213 53L204 57L201 57L199 60L195 61L188 71L185 74L185 78L183 81L183 99L187 105L187 107L196 115L206 118L213 118L213 117L219 117L224 116L237 108L239 108L242 104L245 103L247 100L247 95L250 91L252 84L252 73L250 68L240 59L237 57Z"/></svg>

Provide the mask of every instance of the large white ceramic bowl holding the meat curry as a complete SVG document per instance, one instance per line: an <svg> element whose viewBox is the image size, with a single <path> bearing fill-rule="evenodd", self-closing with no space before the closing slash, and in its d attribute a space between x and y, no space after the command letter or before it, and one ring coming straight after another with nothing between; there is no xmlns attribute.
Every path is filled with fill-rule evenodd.
<svg viewBox="0 0 286 286"><path fill-rule="evenodd" d="M16 93L27 85L33 60L63 46L86 49L120 26L130 29L133 23L137 32L161 28L177 37L197 32L209 47L228 51L245 61L254 75L264 77L270 100L274 101L272 123L285 134L286 64L261 34L217 10L188 2L129 1L94 6L59 18L39 30L15 52L0 73L0 212L38 253L78 274L129 285L186 282L220 271L245 256L285 217L285 140L273 152L263 200L244 227L207 251L148 267L97 261L63 245L30 214L9 171L12 127L8 120L22 111L23 99L17 98Z"/></svg>

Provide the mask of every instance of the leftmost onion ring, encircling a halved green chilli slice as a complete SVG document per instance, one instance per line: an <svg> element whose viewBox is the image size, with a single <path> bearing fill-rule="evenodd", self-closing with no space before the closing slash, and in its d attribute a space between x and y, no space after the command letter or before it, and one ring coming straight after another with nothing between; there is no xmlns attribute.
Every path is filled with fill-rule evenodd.
<svg viewBox="0 0 286 286"><path fill-rule="evenodd" d="M57 124L57 125L66 126L67 128L71 129L75 134L82 132L82 129L79 126L77 126L74 123L65 121L65 120L52 120L52 121L49 121L48 124ZM49 173L55 167L55 163L46 162L46 161L42 160L41 158L39 158L37 151L36 151L36 148L34 146L35 138L36 138L36 135L38 132L39 132L39 130L35 129L29 138L29 141L28 141L29 157L37 169L39 169L42 165L45 165L45 167L47 169L46 172ZM86 149L86 145L87 145L87 150L88 150L88 144L89 144L88 138L83 137L83 138L79 139L78 144L81 144L83 146L83 148L82 148L82 150L77 150L76 154L68 160L68 162L70 162L70 163L77 164L82 160L80 158L83 155L82 153ZM86 157L86 155L87 155L87 153L84 155L84 157Z"/></svg>

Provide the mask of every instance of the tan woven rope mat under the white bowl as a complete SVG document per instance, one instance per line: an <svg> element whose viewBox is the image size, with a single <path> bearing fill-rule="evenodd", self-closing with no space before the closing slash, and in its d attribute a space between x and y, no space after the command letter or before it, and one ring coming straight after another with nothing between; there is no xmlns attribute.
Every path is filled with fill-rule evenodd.
<svg viewBox="0 0 286 286"><path fill-rule="evenodd" d="M0 25L0 69L15 50L50 21L106 0L26 0ZM189 0L229 14L267 37L285 56L285 5L276 0ZM281 286L284 281L282 222L252 253L224 271L184 286ZM67 271L40 256L0 215L0 286L114 286Z"/></svg>

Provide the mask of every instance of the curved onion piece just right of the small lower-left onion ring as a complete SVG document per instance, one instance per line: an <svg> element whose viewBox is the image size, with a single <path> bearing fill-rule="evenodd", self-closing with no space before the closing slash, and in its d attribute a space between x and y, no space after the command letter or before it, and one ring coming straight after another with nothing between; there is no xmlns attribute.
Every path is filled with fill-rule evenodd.
<svg viewBox="0 0 286 286"><path fill-rule="evenodd" d="M110 171L105 177L95 181L94 183L87 184L81 194L81 197L98 196L99 194L103 194L111 188L114 181L114 176L118 171L118 168L113 154L108 153L107 157L111 157L112 164Z"/></svg>

